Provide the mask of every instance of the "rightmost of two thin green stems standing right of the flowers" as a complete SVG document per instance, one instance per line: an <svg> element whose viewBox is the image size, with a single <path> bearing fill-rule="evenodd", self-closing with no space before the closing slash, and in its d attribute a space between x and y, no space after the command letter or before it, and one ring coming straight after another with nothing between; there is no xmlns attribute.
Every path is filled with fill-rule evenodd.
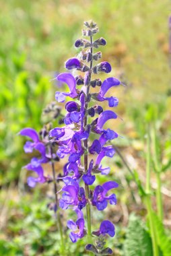
<svg viewBox="0 0 171 256"><path fill-rule="evenodd" d="M162 204L162 184L161 184L161 164L158 155L158 143L157 143L157 135L156 135L156 127L153 124L152 129L152 143L153 143L153 161L156 169L156 177L157 177L157 191L156 191L156 201L157 201L157 209L158 209L158 217L161 222L163 221L163 204Z"/></svg>

